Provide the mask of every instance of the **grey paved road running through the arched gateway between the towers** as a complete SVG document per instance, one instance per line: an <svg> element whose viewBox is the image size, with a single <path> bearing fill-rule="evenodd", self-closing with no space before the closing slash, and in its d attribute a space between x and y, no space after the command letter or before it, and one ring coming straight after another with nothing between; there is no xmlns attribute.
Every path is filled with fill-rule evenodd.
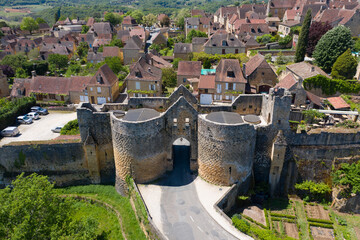
<svg viewBox="0 0 360 240"><path fill-rule="evenodd" d="M161 185L161 222L168 239L236 239L205 210L190 174L189 147L174 146L174 171Z"/></svg>

